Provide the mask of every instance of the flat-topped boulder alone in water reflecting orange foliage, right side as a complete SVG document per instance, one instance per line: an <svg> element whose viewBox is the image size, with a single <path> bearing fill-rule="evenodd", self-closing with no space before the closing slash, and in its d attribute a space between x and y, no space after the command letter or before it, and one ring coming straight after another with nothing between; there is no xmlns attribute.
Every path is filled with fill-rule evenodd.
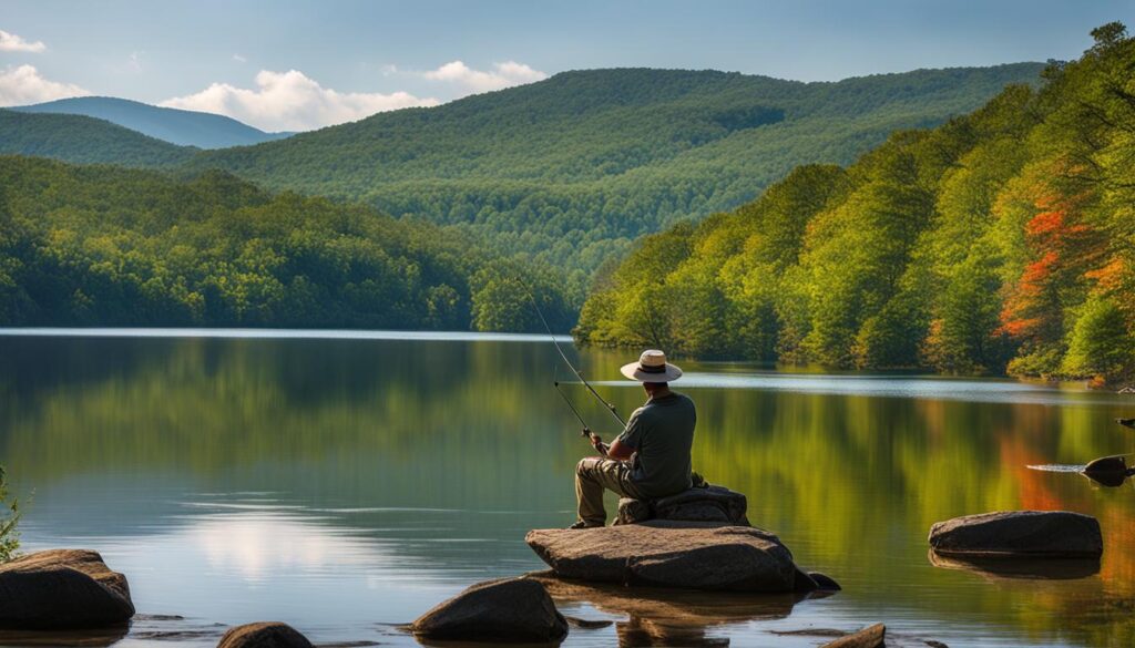
<svg viewBox="0 0 1135 648"><path fill-rule="evenodd" d="M1103 553L1103 536L1088 515L1007 511L939 522L930 545L943 556L1092 558Z"/></svg>

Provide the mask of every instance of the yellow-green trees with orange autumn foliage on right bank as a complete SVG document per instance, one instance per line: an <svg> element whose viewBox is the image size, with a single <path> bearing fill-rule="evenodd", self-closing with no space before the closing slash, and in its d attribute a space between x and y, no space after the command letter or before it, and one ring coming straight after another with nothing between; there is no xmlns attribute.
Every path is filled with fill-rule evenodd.
<svg viewBox="0 0 1135 648"><path fill-rule="evenodd" d="M1135 40L1092 32L848 168L647 237L575 329L599 345L843 368L1119 381L1135 373Z"/></svg>

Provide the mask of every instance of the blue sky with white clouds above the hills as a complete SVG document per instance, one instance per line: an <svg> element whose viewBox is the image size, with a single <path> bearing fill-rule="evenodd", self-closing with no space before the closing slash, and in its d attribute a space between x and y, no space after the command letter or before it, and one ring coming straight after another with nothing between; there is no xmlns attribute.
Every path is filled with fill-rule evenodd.
<svg viewBox="0 0 1135 648"><path fill-rule="evenodd" d="M798 81L1074 59L1135 0L0 0L0 106L107 95L306 131L609 67Z"/></svg>

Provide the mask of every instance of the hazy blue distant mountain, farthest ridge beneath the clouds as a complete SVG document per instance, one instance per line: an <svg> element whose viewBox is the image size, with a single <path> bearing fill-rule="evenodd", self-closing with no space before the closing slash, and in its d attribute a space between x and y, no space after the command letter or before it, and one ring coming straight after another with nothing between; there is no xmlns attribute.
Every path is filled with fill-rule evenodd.
<svg viewBox="0 0 1135 648"><path fill-rule="evenodd" d="M85 115L179 146L224 149L280 140L291 133L264 133L222 115L159 108L112 96L78 96L12 108L20 112Z"/></svg>

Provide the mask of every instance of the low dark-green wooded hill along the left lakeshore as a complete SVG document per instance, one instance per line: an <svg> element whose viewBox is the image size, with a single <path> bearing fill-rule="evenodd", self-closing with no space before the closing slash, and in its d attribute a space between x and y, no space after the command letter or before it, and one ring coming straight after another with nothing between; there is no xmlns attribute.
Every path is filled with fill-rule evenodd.
<svg viewBox="0 0 1135 648"><path fill-rule="evenodd" d="M0 155L0 326L535 330L518 277L565 330L558 277L431 225L218 171Z"/></svg>

